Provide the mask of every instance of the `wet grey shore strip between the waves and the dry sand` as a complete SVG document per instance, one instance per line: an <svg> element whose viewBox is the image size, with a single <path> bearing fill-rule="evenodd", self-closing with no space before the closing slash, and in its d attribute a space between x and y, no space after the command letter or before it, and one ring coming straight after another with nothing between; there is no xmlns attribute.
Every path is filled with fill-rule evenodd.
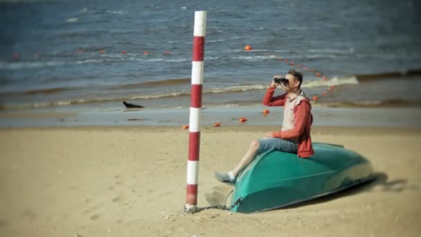
<svg viewBox="0 0 421 237"><path fill-rule="evenodd" d="M262 114L268 109L269 114ZM313 107L313 125L339 127L421 127L420 107ZM240 123L239 118L247 121ZM278 126L283 119L282 107L235 106L204 107L201 126L221 123L224 126ZM0 112L0 128L47 128L77 126L156 126L181 127L189 123L189 108L177 109L115 109L101 108L75 111L36 109Z"/></svg>

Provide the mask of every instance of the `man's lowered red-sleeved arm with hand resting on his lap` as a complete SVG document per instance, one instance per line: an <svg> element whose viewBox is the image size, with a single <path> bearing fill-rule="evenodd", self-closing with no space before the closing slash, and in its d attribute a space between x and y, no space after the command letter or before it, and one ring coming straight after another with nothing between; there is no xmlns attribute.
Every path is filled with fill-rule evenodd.
<svg viewBox="0 0 421 237"><path fill-rule="evenodd" d="M273 137L280 139L299 139L303 134L305 125L310 119L311 105L308 101L301 101L296 105L296 111L294 112L294 128L286 131L278 131L272 134Z"/></svg>

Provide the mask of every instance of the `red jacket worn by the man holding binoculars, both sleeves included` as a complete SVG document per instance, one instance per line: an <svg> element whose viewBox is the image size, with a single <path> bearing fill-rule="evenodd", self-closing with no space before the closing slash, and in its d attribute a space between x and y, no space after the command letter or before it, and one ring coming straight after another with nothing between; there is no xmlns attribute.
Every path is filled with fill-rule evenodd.
<svg viewBox="0 0 421 237"><path fill-rule="evenodd" d="M263 97L263 105L267 106L284 106L287 100L287 93L275 96L275 89L269 87L265 97ZM310 137L310 127L313 122L311 114L312 105L307 98L301 100L294 107L294 128L286 131L274 132L273 137L280 139L298 139L298 157L306 158L314 154L312 146L312 138Z"/></svg>

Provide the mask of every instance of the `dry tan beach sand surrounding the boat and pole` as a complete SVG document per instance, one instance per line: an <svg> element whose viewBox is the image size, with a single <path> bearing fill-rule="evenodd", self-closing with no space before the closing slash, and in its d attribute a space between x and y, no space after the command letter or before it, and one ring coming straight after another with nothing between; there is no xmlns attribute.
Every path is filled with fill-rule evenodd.
<svg viewBox="0 0 421 237"><path fill-rule="evenodd" d="M201 129L199 207L213 178L275 127ZM421 130L316 127L373 163L377 181L289 209L183 213L188 131L0 130L0 236L420 236Z"/></svg>

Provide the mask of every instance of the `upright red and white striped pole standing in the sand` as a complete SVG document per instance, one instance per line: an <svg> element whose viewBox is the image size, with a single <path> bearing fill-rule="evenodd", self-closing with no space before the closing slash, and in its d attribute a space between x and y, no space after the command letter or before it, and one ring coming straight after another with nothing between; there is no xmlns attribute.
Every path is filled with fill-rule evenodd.
<svg viewBox="0 0 421 237"><path fill-rule="evenodd" d="M187 195L186 211L197 209L197 183L199 178L200 109L204 74L204 51L206 34L206 12L195 12L193 35L192 85L190 98L190 122L188 135Z"/></svg>

